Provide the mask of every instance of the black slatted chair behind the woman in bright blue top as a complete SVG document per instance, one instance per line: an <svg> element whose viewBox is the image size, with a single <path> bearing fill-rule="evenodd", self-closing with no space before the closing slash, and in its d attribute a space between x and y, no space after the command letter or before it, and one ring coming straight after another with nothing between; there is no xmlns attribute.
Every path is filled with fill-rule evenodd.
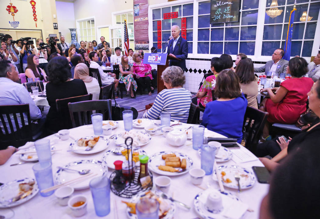
<svg viewBox="0 0 320 219"><path fill-rule="evenodd" d="M252 153L255 153L268 115L269 113L267 112L247 106L244 114L242 132L243 139L245 140L245 147Z"/></svg>

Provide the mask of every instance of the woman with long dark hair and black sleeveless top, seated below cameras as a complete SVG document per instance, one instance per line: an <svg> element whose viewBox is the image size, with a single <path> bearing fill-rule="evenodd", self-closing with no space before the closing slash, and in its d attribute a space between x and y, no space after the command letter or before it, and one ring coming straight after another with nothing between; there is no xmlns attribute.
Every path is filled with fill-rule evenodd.
<svg viewBox="0 0 320 219"><path fill-rule="evenodd" d="M36 77L40 78L40 81L47 81L44 70L39 68L39 57L32 54L28 55L28 66L26 68L26 78L33 78L33 81L36 81Z"/></svg>

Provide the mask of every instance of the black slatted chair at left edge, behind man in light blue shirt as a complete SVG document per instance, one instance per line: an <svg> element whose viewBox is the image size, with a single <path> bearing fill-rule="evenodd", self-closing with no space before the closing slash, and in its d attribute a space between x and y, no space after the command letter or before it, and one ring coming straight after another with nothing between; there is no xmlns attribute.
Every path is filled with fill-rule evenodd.
<svg viewBox="0 0 320 219"><path fill-rule="evenodd" d="M24 115L27 117L26 120ZM21 120L21 128L19 128L18 118ZM20 147L33 140L29 104L0 106L0 120L3 126L3 130L0 128L0 150L9 145ZM8 120L8 126L5 120ZM16 127L16 131L13 125Z"/></svg>

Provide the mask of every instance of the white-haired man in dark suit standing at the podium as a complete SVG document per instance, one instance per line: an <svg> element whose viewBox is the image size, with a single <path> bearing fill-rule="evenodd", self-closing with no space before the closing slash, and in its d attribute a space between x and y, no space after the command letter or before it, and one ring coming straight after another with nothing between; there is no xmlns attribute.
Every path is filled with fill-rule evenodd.
<svg viewBox="0 0 320 219"><path fill-rule="evenodd" d="M172 55L179 60L170 60L169 66L179 66L181 69L185 71L186 69L186 58L188 57L188 43L187 40L183 39L180 36L180 27L179 26L172 26L171 34L173 39L169 40L168 43L168 55Z"/></svg>

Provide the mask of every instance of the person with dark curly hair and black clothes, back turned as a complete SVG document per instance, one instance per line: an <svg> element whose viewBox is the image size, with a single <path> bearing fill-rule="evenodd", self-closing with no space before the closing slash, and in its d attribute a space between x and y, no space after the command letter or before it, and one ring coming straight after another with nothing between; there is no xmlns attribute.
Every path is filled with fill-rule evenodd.
<svg viewBox="0 0 320 219"><path fill-rule="evenodd" d="M66 57L54 57L48 63L49 83L46 85L47 100L50 106L47 114L46 128L53 132L69 129L65 126L57 111L56 99L64 99L88 94L85 84L80 79L69 78L70 65Z"/></svg>

